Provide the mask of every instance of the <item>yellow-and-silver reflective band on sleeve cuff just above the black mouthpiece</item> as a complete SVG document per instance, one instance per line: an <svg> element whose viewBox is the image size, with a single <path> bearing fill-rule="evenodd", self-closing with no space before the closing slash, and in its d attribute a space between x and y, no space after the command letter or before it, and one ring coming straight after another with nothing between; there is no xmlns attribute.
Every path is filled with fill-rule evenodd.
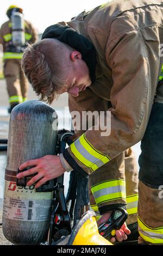
<svg viewBox="0 0 163 256"><path fill-rule="evenodd" d="M126 183L124 180L105 181L91 187L96 204L124 198L126 199Z"/></svg>

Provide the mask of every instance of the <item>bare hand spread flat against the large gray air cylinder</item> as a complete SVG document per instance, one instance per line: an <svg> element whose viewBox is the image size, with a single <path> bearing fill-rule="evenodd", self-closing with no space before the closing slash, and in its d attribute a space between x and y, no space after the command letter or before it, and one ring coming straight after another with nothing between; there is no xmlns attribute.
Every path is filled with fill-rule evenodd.
<svg viewBox="0 0 163 256"><path fill-rule="evenodd" d="M46 183L48 180L55 179L60 175L64 174L65 169L61 164L59 156L46 155L39 159L29 160L19 167L23 170L27 167L35 166L29 170L17 174L17 179L23 178L24 176L29 176L37 173L32 179L27 183L27 186L35 185L35 188L40 187L42 184Z"/></svg>

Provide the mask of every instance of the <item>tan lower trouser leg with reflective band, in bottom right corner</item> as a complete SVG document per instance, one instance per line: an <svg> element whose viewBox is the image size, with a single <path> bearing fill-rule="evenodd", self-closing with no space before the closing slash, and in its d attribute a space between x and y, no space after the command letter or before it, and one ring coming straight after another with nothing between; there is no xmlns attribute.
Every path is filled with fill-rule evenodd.
<svg viewBox="0 0 163 256"><path fill-rule="evenodd" d="M163 186L152 188L139 181L139 243L162 245Z"/></svg>

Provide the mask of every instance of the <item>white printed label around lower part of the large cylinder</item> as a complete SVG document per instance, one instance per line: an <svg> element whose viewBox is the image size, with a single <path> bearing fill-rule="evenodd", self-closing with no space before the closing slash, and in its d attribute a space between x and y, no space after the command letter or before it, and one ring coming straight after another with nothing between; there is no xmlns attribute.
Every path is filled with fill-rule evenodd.
<svg viewBox="0 0 163 256"><path fill-rule="evenodd" d="M51 216L52 200L24 200L4 197L3 216L10 220L46 221Z"/></svg>

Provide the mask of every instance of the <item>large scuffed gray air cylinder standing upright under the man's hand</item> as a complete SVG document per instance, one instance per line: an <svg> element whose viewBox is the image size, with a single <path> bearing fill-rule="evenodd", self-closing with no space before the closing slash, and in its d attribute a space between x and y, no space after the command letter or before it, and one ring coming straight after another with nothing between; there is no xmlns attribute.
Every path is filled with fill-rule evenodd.
<svg viewBox="0 0 163 256"><path fill-rule="evenodd" d="M52 192L36 192L34 185L17 186L16 174L18 167L28 160L55 155L56 144L57 114L52 107L29 100L12 110L5 170L3 233L14 245L36 245L47 237Z"/></svg>

